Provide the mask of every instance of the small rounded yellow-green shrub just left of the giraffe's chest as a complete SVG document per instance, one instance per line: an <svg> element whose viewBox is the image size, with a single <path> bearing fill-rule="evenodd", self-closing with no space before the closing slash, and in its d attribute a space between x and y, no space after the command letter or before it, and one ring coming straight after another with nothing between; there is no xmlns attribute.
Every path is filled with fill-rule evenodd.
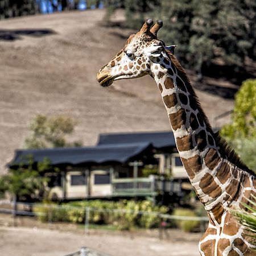
<svg viewBox="0 0 256 256"><path fill-rule="evenodd" d="M190 209L177 208L174 210L174 216L184 216L184 217L196 217L196 213ZM192 232L200 225L200 221L197 220L175 220L176 226L185 232Z"/></svg>

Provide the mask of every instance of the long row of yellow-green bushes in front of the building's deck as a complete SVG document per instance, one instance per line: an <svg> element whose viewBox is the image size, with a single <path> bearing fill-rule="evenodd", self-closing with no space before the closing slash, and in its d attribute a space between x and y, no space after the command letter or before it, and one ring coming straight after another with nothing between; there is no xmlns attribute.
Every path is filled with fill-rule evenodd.
<svg viewBox="0 0 256 256"><path fill-rule="evenodd" d="M63 207L61 207L63 206ZM67 204L43 204L34 208L41 221L66 221L77 224L85 222L86 208L90 209L90 224L114 225L119 230L154 228L159 226L160 213L167 213L168 207L154 205L149 200L134 201L76 201ZM155 214L142 214L151 212ZM43 214L40 214L43 213Z"/></svg>

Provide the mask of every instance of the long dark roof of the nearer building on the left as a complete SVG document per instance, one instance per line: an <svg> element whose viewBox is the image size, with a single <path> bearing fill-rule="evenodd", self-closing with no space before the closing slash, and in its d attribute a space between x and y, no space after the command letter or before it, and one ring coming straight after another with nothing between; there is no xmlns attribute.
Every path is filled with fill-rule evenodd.
<svg viewBox="0 0 256 256"><path fill-rule="evenodd" d="M152 150L150 143L130 143L101 145L95 147L47 148L39 150L16 150L15 157L9 166L27 164L28 155L34 162L42 162L44 158L51 164L81 164L106 162L125 163L146 150Z"/></svg>

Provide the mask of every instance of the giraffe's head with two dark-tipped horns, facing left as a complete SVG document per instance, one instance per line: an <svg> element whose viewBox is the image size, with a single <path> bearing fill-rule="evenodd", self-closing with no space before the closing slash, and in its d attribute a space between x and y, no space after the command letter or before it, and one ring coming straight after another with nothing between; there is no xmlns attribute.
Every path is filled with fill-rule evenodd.
<svg viewBox="0 0 256 256"><path fill-rule="evenodd" d="M109 86L113 81L133 79L151 74L151 64L156 63L159 56L167 56L166 50L173 51L175 46L166 47L157 38L158 30L163 26L158 20L154 26L152 19L147 19L141 30L127 40L125 47L100 69L97 80L102 86Z"/></svg>

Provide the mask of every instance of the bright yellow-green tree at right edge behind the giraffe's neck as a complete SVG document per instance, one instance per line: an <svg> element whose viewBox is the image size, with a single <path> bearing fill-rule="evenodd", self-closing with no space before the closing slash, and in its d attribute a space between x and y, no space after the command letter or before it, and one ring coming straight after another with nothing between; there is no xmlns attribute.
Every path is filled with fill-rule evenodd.
<svg viewBox="0 0 256 256"><path fill-rule="evenodd" d="M236 148L243 162L256 171L256 79L243 82L236 94L232 123L221 135Z"/></svg>

